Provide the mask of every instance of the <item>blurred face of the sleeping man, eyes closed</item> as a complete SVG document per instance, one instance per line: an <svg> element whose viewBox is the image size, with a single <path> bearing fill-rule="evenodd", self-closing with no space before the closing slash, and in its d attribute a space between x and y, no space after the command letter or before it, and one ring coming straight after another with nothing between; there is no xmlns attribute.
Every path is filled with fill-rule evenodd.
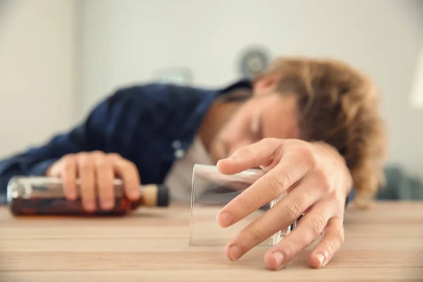
<svg viewBox="0 0 423 282"><path fill-rule="evenodd" d="M295 95L282 96L271 86L256 84L254 94L224 123L210 143L214 161L263 138L298 138Z"/></svg>

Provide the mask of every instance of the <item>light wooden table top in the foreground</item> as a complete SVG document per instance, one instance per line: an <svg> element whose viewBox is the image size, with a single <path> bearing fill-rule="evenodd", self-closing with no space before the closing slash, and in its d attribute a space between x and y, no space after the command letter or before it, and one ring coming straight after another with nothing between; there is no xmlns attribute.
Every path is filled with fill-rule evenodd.
<svg viewBox="0 0 423 282"><path fill-rule="evenodd" d="M423 202L348 209L345 243L325 269L309 248L281 271L266 247L228 262L223 247L190 247L188 207L125 218L20 218L0 209L0 281L423 281Z"/></svg>

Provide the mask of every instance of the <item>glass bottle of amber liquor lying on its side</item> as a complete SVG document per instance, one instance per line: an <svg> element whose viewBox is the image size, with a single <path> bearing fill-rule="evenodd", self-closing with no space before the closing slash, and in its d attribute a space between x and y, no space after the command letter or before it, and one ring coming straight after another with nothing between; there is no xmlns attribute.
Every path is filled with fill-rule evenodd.
<svg viewBox="0 0 423 282"><path fill-rule="evenodd" d="M78 180L77 187L79 190ZM115 204L112 209L101 209L97 199L97 209L88 212L83 209L80 197L77 200L66 199L59 178L16 176L8 182L8 207L15 216L123 216L138 207L167 207L169 204L169 191L166 185L141 185L141 197L136 201L131 201L125 196L122 180L114 180L114 188Z"/></svg>

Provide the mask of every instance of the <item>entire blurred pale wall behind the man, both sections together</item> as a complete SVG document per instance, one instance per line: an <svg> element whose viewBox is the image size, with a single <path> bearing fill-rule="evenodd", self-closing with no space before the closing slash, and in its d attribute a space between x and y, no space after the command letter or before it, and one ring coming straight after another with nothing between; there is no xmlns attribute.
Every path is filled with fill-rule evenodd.
<svg viewBox="0 0 423 282"><path fill-rule="evenodd" d="M66 130L116 88L149 82L163 68L186 67L193 84L224 86L240 78L240 51L259 44L272 56L344 59L371 75L389 161L423 173L423 109L410 102L423 1L18 2L0 26L0 154Z"/></svg>

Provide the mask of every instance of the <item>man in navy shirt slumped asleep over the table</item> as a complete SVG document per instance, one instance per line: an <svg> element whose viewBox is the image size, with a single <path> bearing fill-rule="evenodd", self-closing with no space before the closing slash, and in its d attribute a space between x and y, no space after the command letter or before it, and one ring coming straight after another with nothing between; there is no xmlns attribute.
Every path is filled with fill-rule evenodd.
<svg viewBox="0 0 423 282"><path fill-rule="evenodd" d="M183 201L196 163L217 164L226 174L261 167L267 173L223 207L219 224L231 226L288 195L228 243L228 259L303 215L264 260L281 269L322 234L309 257L319 268L341 247L348 195L354 190L356 204L367 207L383 180L378 99L369 79L345 63L307 58L276 59L255 81L223 90L128 87L71 132L2 161L1 188L15 175L58 176L73 200L78 177L85 209L111 209L115 177L130 199L140 197L140 183L167 183Z"/></svg>

